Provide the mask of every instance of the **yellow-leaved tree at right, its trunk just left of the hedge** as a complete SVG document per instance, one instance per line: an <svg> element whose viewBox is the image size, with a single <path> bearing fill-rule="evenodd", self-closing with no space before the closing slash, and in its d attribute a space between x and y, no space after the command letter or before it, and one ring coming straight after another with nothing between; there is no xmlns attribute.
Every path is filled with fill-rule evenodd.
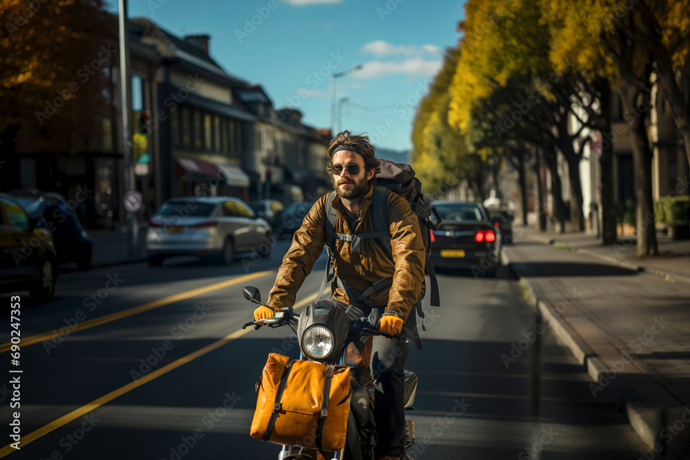
<svg viewBox="0 0 690 460"><path fill-rule="evenodd" d="M556 68L564 59L593 77L604 77L622 100L624 120L629 125L633 145L635 196L637 198L638 257L657 255L651 190L652 152L644 126L640 103L651 91L652 54L636 41L631 31L643 27L635 10L613 0L572 3L568 0L541 0L553 42L551 61ZM622 10L621 10L622 8ZM605 101L604 101L605 103Z"/></svg>

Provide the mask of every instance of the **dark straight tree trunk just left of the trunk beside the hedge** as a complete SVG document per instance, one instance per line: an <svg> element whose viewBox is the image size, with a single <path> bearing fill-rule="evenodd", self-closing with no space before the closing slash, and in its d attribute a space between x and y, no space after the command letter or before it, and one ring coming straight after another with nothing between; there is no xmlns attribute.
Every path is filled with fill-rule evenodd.
<svg viewBox="0 0 690 460"><path fill-rule="evenodd" d="M601 88L601 117L602 144L599 166L601 168L601 200L602 200L602 244L612 245L617 241L615 230L615 190L613 186L613 143L603 134L611 132L611 87L608 81L602 83Z"/></svg>

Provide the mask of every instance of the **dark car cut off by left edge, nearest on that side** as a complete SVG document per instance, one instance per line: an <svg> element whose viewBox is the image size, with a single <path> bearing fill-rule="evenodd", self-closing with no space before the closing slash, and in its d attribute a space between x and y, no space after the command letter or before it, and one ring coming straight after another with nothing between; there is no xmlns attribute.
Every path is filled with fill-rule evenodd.
<svg viewBox="0 0 690 460"><path fill-rule="evenodd" d="M55 295L52 234L8 194L0 194L0 292L28 290L34 301Z"/></svg>

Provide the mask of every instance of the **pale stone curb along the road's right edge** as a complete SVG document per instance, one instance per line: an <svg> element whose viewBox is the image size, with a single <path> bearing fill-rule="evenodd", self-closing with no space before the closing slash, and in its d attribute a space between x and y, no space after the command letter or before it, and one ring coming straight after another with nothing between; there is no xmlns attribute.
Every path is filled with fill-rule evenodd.
<svg viewBox="0 0 690 460"><path fill-rule="evenodd" d="M529 280L520 276L519 270L515 269L507 254L504 254L504 261L506 261L506 264L516 275L517 279L520 280L520 283L528 292L530 300L535 300L535 303L532 303L532 305L542 314L544 323L548 324L556 337L569 348L575 359L586 367L587 374L589 374L592 381L600 382L607 373L613 372L593 352L589 344L571 328L569 323L562 319L560 313L552 310L546 302L538 297L532 284ZM640 396L629 388L622 379L611 379L610 384L606 386L606 390L616 406L623 410L629 425L640 436L640 439L653 449L655 443L658 442L657 434L661 428L660 421L662 421L663 417L661 411L651 409L644 404Z"/></svg>

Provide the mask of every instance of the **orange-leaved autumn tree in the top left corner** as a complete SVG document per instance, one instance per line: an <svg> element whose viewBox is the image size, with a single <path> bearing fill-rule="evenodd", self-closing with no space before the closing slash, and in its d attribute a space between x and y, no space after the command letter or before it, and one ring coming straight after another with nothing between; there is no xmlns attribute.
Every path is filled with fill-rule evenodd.
<svg viewBox="0 0 690 460"><path fill-rule="evenodd" d="M20 130L51 147L94 132L103 89L95 68L112 59L105 38L114 29L101 0L1 0L0 17L0 182L15 188Z"/></svg>

